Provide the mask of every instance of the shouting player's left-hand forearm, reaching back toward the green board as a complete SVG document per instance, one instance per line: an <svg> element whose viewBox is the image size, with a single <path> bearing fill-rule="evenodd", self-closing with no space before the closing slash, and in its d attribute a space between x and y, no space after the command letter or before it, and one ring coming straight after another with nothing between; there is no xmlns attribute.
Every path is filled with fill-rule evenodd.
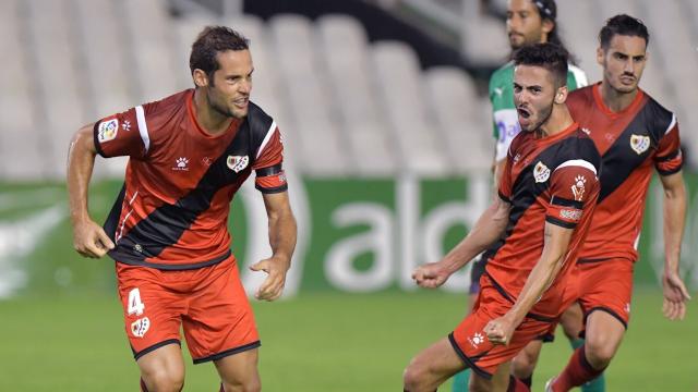
<svg viewBox="0 0 698 392"><path fill-rule="evenodd" d="M470 233L444 257L443 262L448 271L453 273L459 270L500 240L508 222L508 209L502 208L500 203L490 206Z"/></svg>

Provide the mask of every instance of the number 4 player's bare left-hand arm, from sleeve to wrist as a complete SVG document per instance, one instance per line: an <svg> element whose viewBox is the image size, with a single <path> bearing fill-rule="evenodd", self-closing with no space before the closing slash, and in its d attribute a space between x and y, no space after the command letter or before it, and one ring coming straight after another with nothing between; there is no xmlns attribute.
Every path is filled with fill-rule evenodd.
<svg viewBox="0 0 698 392"><path fill-rule="evenodd" d="M68 195L73 223L89 218L87 188L96 155L89 148L91 145L93 145L92 135L87 135L83 128L75 133L68 150Z"/></svg>

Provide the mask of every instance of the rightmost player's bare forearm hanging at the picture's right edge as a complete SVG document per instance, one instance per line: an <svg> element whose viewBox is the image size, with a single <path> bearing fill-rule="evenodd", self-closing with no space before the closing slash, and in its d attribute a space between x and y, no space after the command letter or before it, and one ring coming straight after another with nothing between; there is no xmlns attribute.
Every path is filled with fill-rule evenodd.
<svg viewBox="0 0 698 392"><path fill-rule="evenodd" d="M683 181L664 188L664 271L678 273L681 242L686 221L686 187Z"/></svg>

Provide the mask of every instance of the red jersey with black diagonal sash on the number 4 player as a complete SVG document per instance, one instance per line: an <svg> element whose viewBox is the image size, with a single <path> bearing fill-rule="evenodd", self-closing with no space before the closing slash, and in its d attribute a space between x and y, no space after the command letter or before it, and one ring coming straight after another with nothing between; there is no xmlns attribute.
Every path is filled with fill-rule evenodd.
<svg viewBox="0 0 698 392"><path fill-rule="evenodd" d="M105 230L119 262L194 269L230 256L230 200L256 171L256 188L285 192L274 120L250 102L220 135L196 122L192 89L107 117L94 127L103 157L130 156Z"/></svg>

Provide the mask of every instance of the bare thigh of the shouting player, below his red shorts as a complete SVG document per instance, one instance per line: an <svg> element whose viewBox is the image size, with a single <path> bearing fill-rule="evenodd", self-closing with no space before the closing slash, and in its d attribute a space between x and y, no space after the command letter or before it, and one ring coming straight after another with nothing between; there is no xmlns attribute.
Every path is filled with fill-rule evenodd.
<svg viewBox="0 0 698 392"><path fill-rule="evenodd" d="M417 354L406 370L406 380L419 379L420 384L440 385L466 366L452 343L444 338Z"/></svg>

